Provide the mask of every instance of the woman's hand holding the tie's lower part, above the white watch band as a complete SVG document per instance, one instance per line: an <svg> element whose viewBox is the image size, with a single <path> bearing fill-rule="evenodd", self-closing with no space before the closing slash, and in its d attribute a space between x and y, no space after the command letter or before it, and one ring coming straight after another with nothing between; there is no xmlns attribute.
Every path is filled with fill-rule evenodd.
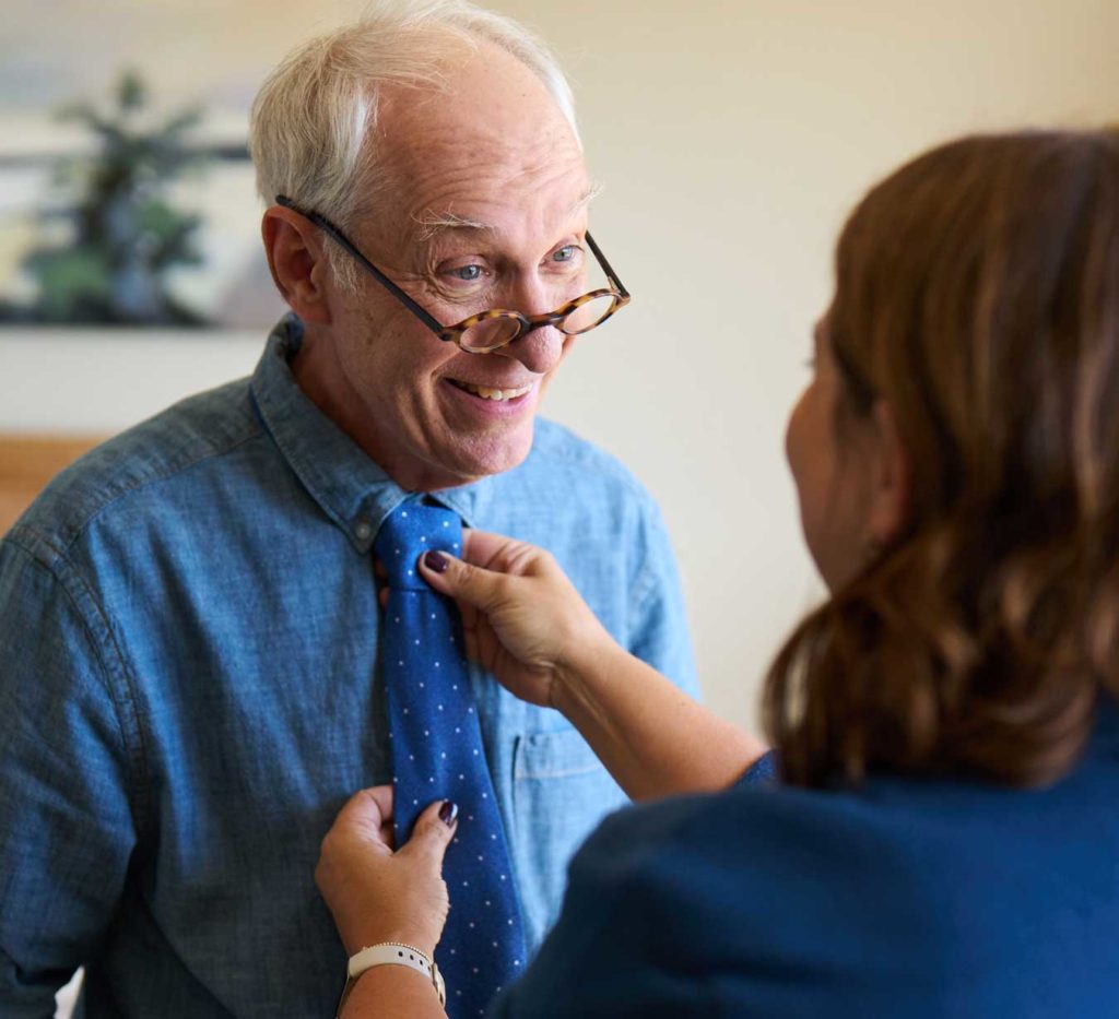
<svg viewBox="0 0 1119 1019"><path fill-rule="evenodd" d="M395 852L392 819L392 786L355 794L322 840L314 880L350 955L396 941L432 957L446 923L443 855L458 809L446 800L432 803Z"/></svg>

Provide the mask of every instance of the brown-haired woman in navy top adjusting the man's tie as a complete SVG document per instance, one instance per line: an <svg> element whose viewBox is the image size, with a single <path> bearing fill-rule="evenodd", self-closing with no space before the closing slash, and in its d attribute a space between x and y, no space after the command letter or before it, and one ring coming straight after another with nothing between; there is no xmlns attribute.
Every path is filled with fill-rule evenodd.
<svg viewBox="0 0 1119 1019"><path fill-rule="evenodd" d="M661 800L587 841L493 1016L1119 1015L1119 134L920 157L836 276L787 438L830 596L770 671L773 755L614 645L546 554L470 532L422 562L474 658ZM395 853L389 812L351 800L318 879L349 952L430 955L454 810ZM363 1001L442 1015L398 965L344 1015Z"/></svg>

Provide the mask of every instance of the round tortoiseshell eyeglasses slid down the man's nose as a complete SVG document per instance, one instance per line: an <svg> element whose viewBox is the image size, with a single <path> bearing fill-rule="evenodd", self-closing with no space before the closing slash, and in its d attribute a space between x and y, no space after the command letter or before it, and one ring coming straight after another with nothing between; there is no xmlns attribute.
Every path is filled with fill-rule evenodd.
<svg viewBox="0 0 1119 1019"><path fill-rule="evenodd" d="M609 286L592 290L590 293L575 298L555 311L542 315L524 315L519 311L491 309L470 315L454 325L444 325L431 312L412 300L399 286L388 279L376 265L365 257L357 246L336 227L326 216L318 213L305 213L285 195L276 196L276 205L292 209L305 216L336 244L345 248L382 286L397 301L424 323L435 336L448 343L457 343L467 353L490 353L506 343L511 343L526 332L554 325L564 336L580 336L590 332L606 321L615 311L630 302L629 291L622 285L605 256L586 234L586 244L606 275Z"/></svg>

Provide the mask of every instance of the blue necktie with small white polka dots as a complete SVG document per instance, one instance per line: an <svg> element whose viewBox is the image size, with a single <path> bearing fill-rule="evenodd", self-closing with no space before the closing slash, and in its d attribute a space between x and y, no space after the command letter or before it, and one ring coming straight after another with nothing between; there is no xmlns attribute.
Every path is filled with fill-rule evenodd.
<svg viewBox="0 0 1119 1019"><path fill-rule="evenodd" d="M407 503L385 520L375 544L389 586L382 674L396 845L404 843L416 815L433 800L459 804L459 828L443 868L451 913L436 953L452 1019L483 1015L525 960L509 849L486 764L458 611L416 569L425 551L457 555L461 542L455 513Z"/></svg>

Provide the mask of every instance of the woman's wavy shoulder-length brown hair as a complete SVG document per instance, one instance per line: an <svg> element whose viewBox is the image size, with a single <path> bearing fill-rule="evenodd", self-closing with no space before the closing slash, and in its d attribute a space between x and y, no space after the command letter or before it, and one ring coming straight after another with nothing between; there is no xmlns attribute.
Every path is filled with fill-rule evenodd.
<svg viewBox="0 0 1119 1019"><path fill-rule="evenodd" d="M1055 781L1119 691L1119 132L967 138L836 252L837 434L885 400L905 534L768 678L786 781Z"/></svg>

